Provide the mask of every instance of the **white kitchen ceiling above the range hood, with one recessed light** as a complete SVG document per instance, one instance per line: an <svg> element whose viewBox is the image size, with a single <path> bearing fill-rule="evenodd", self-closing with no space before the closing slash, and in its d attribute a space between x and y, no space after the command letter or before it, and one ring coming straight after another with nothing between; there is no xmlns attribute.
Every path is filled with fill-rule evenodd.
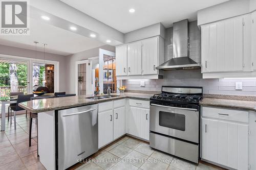
<svg viewBox="0 0 256 170"><path fill-rule="evenodd" d="M197 19L197 11L228 0L60 0L77 10L98 19L114 29L127 33L154 23L165 28L173 22ZM135 13L129 13L134 8Z"/></svg>

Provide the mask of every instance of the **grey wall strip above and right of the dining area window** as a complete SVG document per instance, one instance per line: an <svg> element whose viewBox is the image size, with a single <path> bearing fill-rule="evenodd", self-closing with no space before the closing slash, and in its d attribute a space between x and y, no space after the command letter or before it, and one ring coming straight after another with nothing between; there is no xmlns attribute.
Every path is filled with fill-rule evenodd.
<svg viewBox="0 0 256 170"><path fill-rule="evenodd" d="M27 50L24 48L17 48L12 46L6 46L0 44L0 54L35 58L35 51ZM44 59L44 53L37 52L38 59ZM59 61L59 91L66 91L66 62L65 56L60 56L56 54L46 53L45 59L52 61Z"/></svg>

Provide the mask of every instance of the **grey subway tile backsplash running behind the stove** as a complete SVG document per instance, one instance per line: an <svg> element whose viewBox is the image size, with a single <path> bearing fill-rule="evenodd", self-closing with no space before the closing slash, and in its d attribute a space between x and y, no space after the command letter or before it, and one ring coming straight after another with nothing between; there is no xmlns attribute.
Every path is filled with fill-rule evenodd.
<svg viewBox="0 0 256 170"><path fill-rule="evenodd" d="M140 81L145 81L145 87L140 87ZM235 82L243 82L243 90L236 90ZM205 94L256 96L256 78L202 79L200 69L165 71L164 79L125 80L123 84L127 90L161 91L162 86L202 86Z"/></svg>

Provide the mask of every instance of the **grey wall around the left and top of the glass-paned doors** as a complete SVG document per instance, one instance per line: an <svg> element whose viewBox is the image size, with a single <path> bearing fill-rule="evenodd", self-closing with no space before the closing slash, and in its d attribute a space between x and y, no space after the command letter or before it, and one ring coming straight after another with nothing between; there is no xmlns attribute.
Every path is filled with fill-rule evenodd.
<svg viewBox="0 0 256 170"><path fill-rule="evenodd" d="M115 52L115 46L103 45L91 50L83 51L73 55L66 56L66 91L68 93L75 93L75 62L80 60L86 60L91 57L96 57L99 55L99 48Z"/></svg>

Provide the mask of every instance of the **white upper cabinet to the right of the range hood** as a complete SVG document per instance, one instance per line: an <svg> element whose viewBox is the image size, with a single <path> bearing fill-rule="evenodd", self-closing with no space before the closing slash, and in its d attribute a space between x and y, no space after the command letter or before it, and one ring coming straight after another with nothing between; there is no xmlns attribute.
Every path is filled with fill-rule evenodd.
<svg viewBox="0 0 256 170"><path fill-rule="evenodd" d="M254 12L201 26L203 78L255 77L255 15Z"/></svg>

